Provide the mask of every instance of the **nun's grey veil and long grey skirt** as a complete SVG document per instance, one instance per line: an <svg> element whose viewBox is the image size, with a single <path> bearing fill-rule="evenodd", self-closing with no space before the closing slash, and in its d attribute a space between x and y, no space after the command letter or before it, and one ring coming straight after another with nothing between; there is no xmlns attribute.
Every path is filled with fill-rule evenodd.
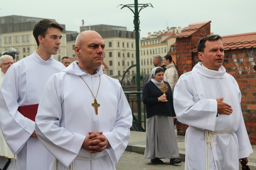
<svg viewBox="0 0 256 170"><path fill-rule="evenodd" d="M158 88L162 82L153 80L155 71L152 69L150 79ZM170 101L168 101L170 102ZM146 121L146 148L144 158L178 158L179 149L177 145L173 118L171 116L154 115Z"/></svg>

